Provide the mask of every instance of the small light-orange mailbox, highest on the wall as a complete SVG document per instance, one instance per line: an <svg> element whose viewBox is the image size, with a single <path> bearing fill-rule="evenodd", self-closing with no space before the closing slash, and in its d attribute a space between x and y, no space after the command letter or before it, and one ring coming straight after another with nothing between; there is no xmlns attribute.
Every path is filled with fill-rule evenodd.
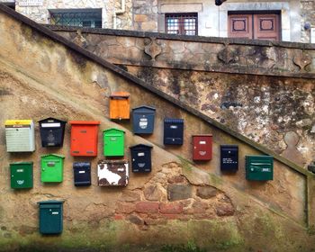
<svg viewBox="0 0 315 252"><path fill-rule="evenodd" d="M130 119L130 94L127 92L114 92L110 100L111 119Z"/></svg>

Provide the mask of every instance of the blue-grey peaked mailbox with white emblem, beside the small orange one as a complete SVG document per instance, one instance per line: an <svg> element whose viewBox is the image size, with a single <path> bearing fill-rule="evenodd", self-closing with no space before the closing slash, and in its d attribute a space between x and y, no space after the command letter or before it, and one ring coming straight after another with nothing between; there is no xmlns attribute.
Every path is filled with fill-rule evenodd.
<svg viewBox="0 0 315 252"><path fill-rule="evenodd" d="M132 126L135 134L152 134L156 109L140 106L132 109Z"/></svg>

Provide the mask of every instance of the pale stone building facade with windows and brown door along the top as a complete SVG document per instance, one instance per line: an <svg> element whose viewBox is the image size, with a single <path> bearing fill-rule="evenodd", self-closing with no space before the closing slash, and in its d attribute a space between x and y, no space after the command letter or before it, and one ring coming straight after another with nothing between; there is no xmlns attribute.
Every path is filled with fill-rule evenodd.
<svg viewBox="0 0 315 252"><path fill-rule="evenodd" d="M38 23L315 42L314 1L4 0Z"/></svg>

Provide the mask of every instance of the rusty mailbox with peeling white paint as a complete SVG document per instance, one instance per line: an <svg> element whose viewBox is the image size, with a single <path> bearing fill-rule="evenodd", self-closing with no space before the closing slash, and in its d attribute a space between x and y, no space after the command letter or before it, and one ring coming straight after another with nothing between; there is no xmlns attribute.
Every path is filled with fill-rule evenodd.
<svg viewBox="0 0 315 252"><path fill-rule="evenodd" d="M127 160L100 160L97 164L99 186L126 186L129 180Z"/></svg>

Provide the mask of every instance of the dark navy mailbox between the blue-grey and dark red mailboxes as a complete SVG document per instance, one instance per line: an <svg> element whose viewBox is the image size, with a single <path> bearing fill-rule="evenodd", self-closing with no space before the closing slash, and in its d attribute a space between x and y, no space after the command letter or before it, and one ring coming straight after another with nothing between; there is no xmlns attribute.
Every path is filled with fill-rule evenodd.
<svg viewBox="0 0 315 252"><path fill-rule="evenodd" d="M164 119L164 144L182 145L184 141L184 120Z"/></svg>

